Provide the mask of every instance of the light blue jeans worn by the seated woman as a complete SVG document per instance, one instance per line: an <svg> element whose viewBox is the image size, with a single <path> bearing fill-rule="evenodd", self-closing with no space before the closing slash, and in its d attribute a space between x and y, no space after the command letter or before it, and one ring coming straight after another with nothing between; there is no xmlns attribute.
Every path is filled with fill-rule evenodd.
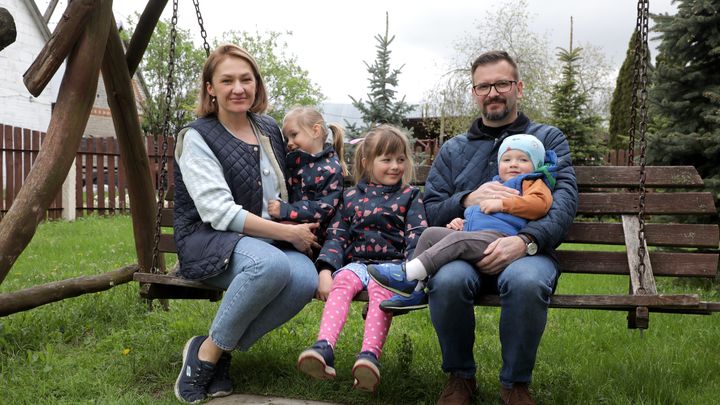
<svg viewBox="0 0 720 405"><path fill-rule="evenodd" d="M227 270L205 283L226 290L210 338L223 350L245 351L310 302L318 276L304 254L245 236L235 245Z"/></svg>

